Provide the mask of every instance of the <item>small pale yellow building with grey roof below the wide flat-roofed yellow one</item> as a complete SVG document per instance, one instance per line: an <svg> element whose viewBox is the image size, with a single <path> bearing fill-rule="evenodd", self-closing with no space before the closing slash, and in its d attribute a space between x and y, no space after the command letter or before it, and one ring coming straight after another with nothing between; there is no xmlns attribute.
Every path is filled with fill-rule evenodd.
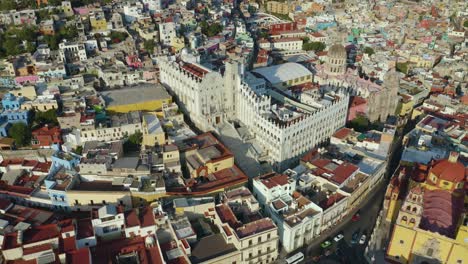
<svg viewBox="0 0 468 264"><path fill-rule="evenodd" d="M145 146L162 146L166 142L164 130L156 113L143 115L143 142Z"/></svg>

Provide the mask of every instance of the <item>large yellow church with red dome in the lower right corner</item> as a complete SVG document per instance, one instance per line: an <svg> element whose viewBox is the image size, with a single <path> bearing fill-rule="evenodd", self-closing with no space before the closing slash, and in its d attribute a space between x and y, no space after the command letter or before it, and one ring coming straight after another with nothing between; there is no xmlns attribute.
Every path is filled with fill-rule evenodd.
<svg viewBox="0 0 468 264"><path fill-rule="evenodd" d="M458 153L432 163L422 182L421 174L410 175L410 190L394 221L387 258L399 263L468 263L465 166Z"/></svg>

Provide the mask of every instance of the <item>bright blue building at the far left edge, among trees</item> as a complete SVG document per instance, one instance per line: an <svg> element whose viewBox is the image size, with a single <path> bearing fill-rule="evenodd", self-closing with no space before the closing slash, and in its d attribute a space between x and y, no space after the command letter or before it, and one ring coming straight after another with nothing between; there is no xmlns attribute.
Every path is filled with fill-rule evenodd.
<svg viewBox="0 0 468 264"><path fill-rule="evenodd" d="M0 118L6 119L10 124L22 122L25 125L29 122L29 110L21 109L21 104L24 102L24 97L14 96L7 93L2 98L3 112Z"/></svg>

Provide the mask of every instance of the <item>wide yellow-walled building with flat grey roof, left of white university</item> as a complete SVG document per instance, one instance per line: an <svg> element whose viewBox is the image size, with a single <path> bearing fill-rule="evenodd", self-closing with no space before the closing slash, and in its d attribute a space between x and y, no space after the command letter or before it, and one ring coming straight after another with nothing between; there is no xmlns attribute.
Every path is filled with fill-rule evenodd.
<svg viewBox="0 0 468 264"><path fill-rule="evenodd" d="M125 89L102 92L106 109L116 113L131 111L155 111L163 104L172 102L172 97L160 84L142 84Z"/></svg>

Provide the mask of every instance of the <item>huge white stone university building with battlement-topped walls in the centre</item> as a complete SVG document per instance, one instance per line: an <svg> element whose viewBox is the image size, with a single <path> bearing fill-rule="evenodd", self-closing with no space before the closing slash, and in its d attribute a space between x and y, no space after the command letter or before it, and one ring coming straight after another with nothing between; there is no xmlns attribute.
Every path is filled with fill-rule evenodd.
<svg viewBox="0 0 468 264"><path fill-rule="evenodd" d="M349 96L344 92L295 97L285 90L264 88L260 78L249 86L237 62L227 62L224 74L194 60L160 58L158 63L161 83L178 97L199 129L217 130L229 121L245 125L260 146L257 157L277 169L327 141L346 122Z"/></svg>

